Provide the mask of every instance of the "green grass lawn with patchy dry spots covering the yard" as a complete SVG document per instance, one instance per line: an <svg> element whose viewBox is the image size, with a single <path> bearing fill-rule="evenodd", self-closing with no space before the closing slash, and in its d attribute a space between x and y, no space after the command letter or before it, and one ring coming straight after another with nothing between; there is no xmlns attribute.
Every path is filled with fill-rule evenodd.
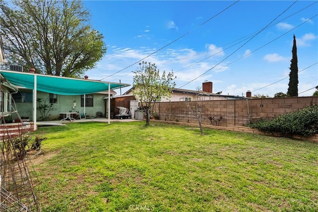
<svg viewBox="0 0 318 212"><path fill-rule="evenodd" d="M39 128L42 212L318 211L318 143L151 124Z"/></svg>

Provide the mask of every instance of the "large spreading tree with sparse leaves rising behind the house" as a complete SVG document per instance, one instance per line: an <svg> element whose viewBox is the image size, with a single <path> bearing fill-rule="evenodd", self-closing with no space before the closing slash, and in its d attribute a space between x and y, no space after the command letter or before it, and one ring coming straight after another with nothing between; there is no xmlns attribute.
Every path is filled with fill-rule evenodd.
<svg viewBox="0 0 318 212"><path fill-rule="evenodd" d="M7 60L24 70L79 77L106 53L80 0L0 1L0 33Z"/></svg>

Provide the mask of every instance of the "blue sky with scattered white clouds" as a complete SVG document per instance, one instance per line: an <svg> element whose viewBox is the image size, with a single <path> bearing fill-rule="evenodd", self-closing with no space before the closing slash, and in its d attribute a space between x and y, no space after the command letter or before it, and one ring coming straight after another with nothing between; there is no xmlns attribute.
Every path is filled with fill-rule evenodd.
<svg viewBox="0 0 318 212"><path fill-rule="evenodd" d="M176 88L196 90L208 80L214 93L273 97L287 92L295 34L299 96L311 96L318 85L317 1L82 3L108 48L85 73L89 79L132 84L132 71L147 57L160 71L174 72Z"/></svg>

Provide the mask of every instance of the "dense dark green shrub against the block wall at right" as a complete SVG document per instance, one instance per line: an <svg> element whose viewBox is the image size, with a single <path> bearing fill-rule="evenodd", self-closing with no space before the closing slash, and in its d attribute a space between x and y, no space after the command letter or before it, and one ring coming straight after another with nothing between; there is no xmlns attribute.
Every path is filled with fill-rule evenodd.
<svg viewBox="0 0 318 212"><path fill-rule="evenodd" d="M273 119L259 119L246 126L263 132L281 133L285 136L311 136L318 133L318 105L285 113Z"/></svg>

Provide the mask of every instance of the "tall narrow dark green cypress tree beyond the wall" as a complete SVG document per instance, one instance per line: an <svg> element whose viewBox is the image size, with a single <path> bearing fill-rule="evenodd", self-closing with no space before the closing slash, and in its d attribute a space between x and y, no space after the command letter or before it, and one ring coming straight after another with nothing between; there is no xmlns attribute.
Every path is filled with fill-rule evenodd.
<svg viewBox="0 0 318 212"><path fill-rule="evenodd" d="M290 73L289 73L289 83L288 83L288 96L298 96L298 60L297 60L297 47L296 47L296 37L294 35L294 44L292 50L292 60L290 61Z"/></svg>

